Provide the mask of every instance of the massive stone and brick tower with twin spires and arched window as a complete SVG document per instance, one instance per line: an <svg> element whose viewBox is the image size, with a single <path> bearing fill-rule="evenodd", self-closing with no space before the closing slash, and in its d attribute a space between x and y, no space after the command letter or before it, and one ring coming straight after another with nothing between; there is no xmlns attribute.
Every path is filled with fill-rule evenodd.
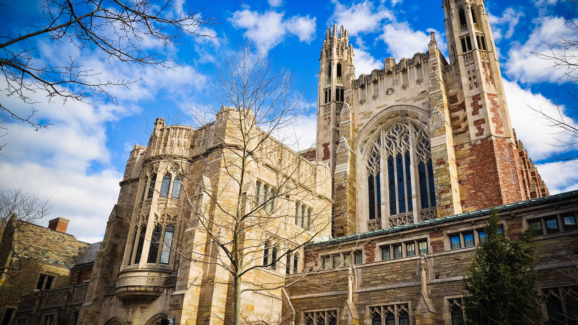
<svg viewBox="0 0 578 325"><path fill-rule="evenodd" d="M333 172L333 235L548 195L513 131L482 0L446 0L449 60L386 58L355 78L347 30L320 56L317 159Z"/></svg>

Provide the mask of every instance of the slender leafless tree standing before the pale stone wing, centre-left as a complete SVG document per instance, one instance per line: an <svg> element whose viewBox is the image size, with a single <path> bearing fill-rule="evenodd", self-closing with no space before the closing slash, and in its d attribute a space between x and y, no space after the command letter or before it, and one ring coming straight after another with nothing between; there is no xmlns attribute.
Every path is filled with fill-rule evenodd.
<svg viewBox="0 0 578 325"><path fill-rule="evenodd" d="M188 276L190 285L199 288L230 288L234 304L227 316L232 321L227 322L235 325L257 320L243 307L243 293L269 291L283 297L285 287L317 272L322 265L308 258L306 245L331 234L329 169L280 141L300 142L291 130L306 105L294 81L286 69L275 69L265 53L244 46L217 67L212 87L223 103L221 109L191 109L201 125L194 143L199 154L190 172L180 172L187 191L179 219L187 231L171 249L181 261L220 270L213 281L180 276ZM149 150L160 137L153 133ZM182 170L184 160L175 149L162 146L150 153L162 156L160 164L165 167L159 171ZM162 186L154 188L160 189L161 197L168 193L168 184L165 193ZM162 243L160 236L151 239L155 240Z"/></svg>

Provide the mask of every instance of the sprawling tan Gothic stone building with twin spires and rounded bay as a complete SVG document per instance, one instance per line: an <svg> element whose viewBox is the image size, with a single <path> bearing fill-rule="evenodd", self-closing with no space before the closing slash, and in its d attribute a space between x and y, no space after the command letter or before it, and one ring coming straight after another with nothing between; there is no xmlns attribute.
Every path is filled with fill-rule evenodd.
<svg viewBox="0 0 578 325"><path fill-rule="evenodd" d="M318 222L331 229L280 265L250 275L249 282L283 279L288 285L243 296L247 320L460 324L461 280L484 239L491 208L510 237L539 228L536 269L538 290L546 296L544 319L576 313L572 293L578 283L568 271L576 268L569 254L578 252L578 191L549 196L516 138L483 1L444 0L443 10L449 58L432 33L427 53L399 62L386 58L383 69L357 79L347 30L328 28L320 57L317 146L299 153L307 161L304 173L316 183L302 183L306 197L280 200L286 208L279 202L279 209L295 206L295 223L278 222L292 237L303 230L298 220L306 210L329 206L331 215ZM197 247L210 250L206 234L178 217L184 194L203 200L187 179L224 193L224 205L239 204L232 193L227 197L227 175L208 164L227 159L212 134L226 140L238 132L229 119L239 113L223 108L214 123L197 130L157 119L149 145L135 146L74 322L152 325L168 317L176 324L231 323L227 275L213 264L179 258L172 248L206 242ZM299 156L283 150L269 161ZM275 184L274 168L251 166L246 193L259 196L266 184ZM262 250L264 264L270 254ZM202 286L190 285L195 277ZM50 313L64 315L70 299L53 304ZM37 324L25 315L54 324L40 315L49 309L27 303L16 312L24 317L18 325ZM71 322L65 318L58 324Z"/></svg>

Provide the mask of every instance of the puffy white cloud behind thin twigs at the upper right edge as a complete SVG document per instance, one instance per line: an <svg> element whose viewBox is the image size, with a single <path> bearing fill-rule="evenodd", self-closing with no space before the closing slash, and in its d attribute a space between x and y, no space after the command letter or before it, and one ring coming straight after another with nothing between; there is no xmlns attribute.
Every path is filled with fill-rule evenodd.
<svg viewBox="0 0 578 325"><path fill-rule="evenodd" d="M562 17L539 17L534 20L536 28L524 44L513 43L508 51L508 59L505 64L508 76L514 77L523 83L538 82L558 82L564 71L562 69L552 69L552 61L536 57L529 51L538 51L547 54L550 49L544 42L557 42L561 37L578 39L578 33L571 31L565 25ZM560 53L561 49L553 47L555 52ZM578 55L578 50L566 51L567 54Z"/></svg>

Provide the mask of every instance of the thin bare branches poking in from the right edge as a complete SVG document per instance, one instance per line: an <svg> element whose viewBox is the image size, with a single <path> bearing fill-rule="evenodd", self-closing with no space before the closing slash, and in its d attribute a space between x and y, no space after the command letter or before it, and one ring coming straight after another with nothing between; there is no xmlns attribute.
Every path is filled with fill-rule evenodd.
<svg viewBox="0 0 578 325"><path fill-rule="evenodd" d="M578 13L578 0L558 0L558 2L569 3L572 11L566 17L566 28L572 31L572 35L576 35L578 20L573 17ZM560 80L575 84L578 80L578 39L560 37L557 42L545 40L542 42L548 46L547 51L532 50L530 53L543 60L551 61L550 69L562 72ZM572 101L578 102L577 94L568 90L566 94ZM561 152L550 155L549 158L560 162L578 161L578 154L575 152L576 145L578 145L578 106L565 109L558 103L558 95L556 98L555 102L551 102L556 108L555 112L544 111L539 105L535 107L528 104L528 107L543 120L544 125L552 127L555 132L557 143L553 145L559 147Z"/></svg>

